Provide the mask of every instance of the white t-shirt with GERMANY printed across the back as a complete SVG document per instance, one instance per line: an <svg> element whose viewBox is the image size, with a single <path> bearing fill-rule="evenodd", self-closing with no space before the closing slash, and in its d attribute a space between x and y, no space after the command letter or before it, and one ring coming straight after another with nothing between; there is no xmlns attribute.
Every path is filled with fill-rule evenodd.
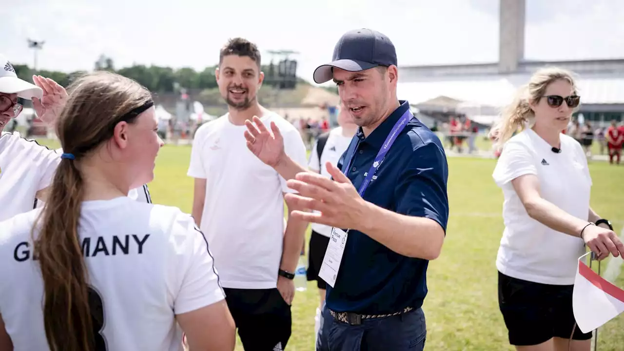
<svg viewBox="0 0 624 351"><path fill-rule="evenodd" d="M48 350L43 280L32 259L39 211L0 223L0 314L16 350ZM87 201L79 228L108 350L182 350L175 315L224 299L202 232L176 207L128 197Z"/></svg>

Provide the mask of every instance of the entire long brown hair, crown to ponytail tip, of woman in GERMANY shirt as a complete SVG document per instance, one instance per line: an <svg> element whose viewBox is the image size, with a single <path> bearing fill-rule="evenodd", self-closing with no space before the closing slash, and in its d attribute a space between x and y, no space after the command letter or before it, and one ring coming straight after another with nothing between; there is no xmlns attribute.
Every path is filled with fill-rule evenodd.
<svg viewBox="0 0 624 351"><path fill-rule="evenodd" d="M107 146L117 124L135 123L153 101L152 94L136 81L106 71L77 78L67 91L69 96L56 124L56 134L67 154L61 156L46 205L33 227L33 255L37 255L41 268L49 349L94 351L105 344L99 334L104 317L98 296L88 284L79 237L80 208L86 191L80 166L99 157L99 147Z"/></svg>

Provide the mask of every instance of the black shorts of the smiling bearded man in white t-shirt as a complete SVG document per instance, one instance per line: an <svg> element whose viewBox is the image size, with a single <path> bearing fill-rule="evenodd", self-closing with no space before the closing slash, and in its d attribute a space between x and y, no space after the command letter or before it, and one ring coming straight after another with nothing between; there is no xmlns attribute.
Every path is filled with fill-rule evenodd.
<svg viewBox="0 0 624 351"><path fill-rule="evenodd" d="M223 290L245 351L286 349L292 316L277 288Z"/></svg>

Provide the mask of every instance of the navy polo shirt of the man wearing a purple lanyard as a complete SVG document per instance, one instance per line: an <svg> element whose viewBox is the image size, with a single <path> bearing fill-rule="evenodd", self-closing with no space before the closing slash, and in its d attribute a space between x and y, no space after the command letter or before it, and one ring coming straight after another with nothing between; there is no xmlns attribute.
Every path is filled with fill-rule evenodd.
<svg viewBox="0 0 624 351"><path fill-rule="evenodd" d="M360 128L351 141L359 142L347 177L356 189L373 164L394 124L409 109L399 106L366 138ZM346 151L348 152L348 151ZM338 162L342 168L346 152ZM449 202L448 167L438 137L416 117L396 138L364 192L364 199L399 214L426 217L446 232ZM326 305L336 312L391 314L405 307L421 307L427 294L428 260L414 259L388 249L366 234L349 230L336 284L327 287Z"/></svg>

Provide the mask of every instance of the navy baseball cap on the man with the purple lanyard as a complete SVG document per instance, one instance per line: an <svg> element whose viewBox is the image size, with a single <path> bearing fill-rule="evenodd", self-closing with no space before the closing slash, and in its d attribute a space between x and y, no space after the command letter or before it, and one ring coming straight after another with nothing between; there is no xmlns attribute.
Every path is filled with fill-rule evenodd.
<svg viewBox="0 0 624 351"><path fill-rule="evenodd" d="M333 67L358 72L391 65L397 65L396 50L387 36L371 29L354 29L344 33L336 43L331 62L314 70L314 82L331 81Z"/></svg>

